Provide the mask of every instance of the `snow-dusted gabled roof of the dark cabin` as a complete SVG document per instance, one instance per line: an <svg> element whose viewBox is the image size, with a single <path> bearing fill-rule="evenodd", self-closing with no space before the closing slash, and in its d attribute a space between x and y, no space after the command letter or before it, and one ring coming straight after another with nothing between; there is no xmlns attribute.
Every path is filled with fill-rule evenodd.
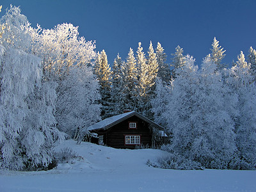
<svg viewBox="0 0 256 192"><path fill-rule="evenodd" d="M113 125L116 125L116 124L122 122L123 120L125 120L131 116L134 116L134 115L145 120L145 122L148 122L148 124L150 124L154 127L163 129L163 127L161 127L161 125L158 125L155 122L152 122L152 120L149 120L145 116L140 115L136 111L131 111L131 112L127 112L127 113L122 113L120 115L111 116L109 118L105 118L104 120L97 122L97 124L91 125L90 127L87 128L87 130L91 131L91 130L96 130L96 129L108 129L109 127L112 127Z"/></svg>

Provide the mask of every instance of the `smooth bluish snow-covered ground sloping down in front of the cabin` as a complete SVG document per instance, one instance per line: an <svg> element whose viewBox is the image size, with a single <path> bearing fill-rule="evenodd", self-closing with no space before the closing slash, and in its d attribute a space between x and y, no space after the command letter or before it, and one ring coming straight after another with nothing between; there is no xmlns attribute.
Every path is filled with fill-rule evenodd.
<svg viewBox="0 0 256 192"><path fill-rule="evenodd" d="M47 172L5 172L0 191L256 191L255 171L163 170L147 166L166 152L125 150L67 140L80 161Z"/></svg>

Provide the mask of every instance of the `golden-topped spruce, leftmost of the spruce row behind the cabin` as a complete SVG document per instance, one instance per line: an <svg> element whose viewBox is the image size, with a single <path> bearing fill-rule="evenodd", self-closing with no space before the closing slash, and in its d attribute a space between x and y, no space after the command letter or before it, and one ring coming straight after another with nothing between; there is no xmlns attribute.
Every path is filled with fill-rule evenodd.
<svg viewBox="0 0 256 192"><path fill-rule="evenodd" d="M108 64L108 57L104 50L97 56L94 69L100 84L100 104L102 104L101 116L108 118L111 116L111 68Z"/></svg>

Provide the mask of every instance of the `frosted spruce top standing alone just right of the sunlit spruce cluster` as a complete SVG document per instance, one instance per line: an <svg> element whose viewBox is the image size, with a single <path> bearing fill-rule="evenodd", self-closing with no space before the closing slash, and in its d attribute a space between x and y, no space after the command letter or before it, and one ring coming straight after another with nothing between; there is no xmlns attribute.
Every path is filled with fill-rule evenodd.
<svg viewBox="0 0 256 192"><path fill-rule="evenodd" d="M176 77L176 70L178 68L183 67L184 65L184 58L185 56L183 56L183 49L178 45L175 48L175 53L172 54L173 58L172 58L172 64L171 66L173 67L172 69L172 77L175 78Z"/></svg>

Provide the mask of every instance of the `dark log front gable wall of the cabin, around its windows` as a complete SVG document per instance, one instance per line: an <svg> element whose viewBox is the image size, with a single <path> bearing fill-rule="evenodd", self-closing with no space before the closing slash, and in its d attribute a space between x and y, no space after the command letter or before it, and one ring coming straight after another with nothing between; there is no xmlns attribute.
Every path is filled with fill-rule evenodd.
<svg viewBox="0 0 256 192"><path fill-rule="evenodd" d="M129 129L129 122L136 122L137 129ZM108 132L104 133L104 143L114 148L135 148L136 145L125 145L125 135L140 135L141 145L152 146L152 134L148 123L137 116L132 116L109 128Z"/></svg>

